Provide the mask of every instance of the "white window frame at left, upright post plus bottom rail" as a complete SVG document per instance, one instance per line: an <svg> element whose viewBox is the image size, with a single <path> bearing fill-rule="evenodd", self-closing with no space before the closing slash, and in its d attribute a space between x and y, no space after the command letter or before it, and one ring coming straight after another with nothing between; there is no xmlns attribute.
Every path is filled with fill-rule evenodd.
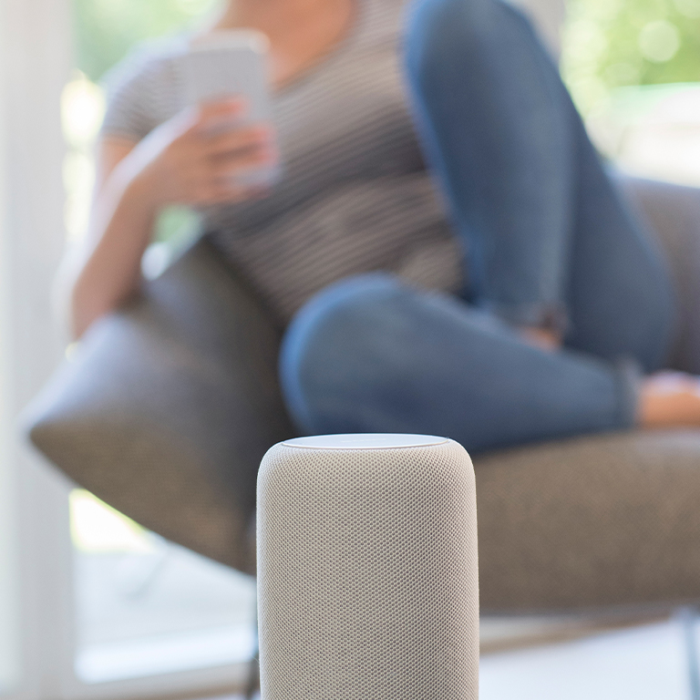
<svg viewBox="0 0 700 700"><path fill-rule="evenodd" d="M70 0L0 0L0 557L13 571L5 602L19 667L0 700L231 693L245 664L94 685L74 672L71 484L19 427L66 347L50 300L66 239L60 96L72 68L71 9Z"/></svg>

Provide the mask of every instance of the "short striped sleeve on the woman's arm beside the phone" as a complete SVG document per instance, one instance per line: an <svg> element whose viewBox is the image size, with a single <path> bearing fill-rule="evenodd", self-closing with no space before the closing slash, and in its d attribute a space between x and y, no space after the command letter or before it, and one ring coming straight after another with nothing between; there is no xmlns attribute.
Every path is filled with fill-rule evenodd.
<svg viewBox="0 0 700 700"><path fill-rule="evenodd" d="M143 139L179 109L180 88L174 57L180 46L141 46L103 80L107 108L100 133Z"/></svg>

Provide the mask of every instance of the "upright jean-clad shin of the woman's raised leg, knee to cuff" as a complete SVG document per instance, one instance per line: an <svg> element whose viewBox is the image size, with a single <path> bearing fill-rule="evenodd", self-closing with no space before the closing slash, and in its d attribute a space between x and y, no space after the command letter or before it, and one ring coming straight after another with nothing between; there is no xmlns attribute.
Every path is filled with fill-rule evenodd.
<svg viewBox="0 0 700 700"><path fill-rule="evenodd" d="M407 77L417 130L459 235L471 292L512 324L566 314L574 125L530 26L494 0L417 0Z"/></svg>

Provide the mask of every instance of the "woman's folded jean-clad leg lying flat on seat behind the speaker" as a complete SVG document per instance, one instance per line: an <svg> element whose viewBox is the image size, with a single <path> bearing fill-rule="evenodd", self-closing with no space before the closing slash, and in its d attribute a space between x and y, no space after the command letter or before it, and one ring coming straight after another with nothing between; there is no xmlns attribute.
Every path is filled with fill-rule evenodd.
<svg viewBox="0 0 700 700"><path fill-rule="evenodd" d="M491 314L382 273L317 294L280 363L306 433L432 433L479 451L634 421L626 367L524 345Z"/></svg>

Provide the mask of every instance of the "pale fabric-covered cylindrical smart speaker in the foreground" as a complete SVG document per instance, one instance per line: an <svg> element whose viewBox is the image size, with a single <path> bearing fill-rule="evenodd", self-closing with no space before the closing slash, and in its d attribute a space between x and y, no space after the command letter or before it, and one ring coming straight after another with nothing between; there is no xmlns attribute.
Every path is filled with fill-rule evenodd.
<svg viewBox="0 0 700 700"><path fill-rule="evenodd" d="M477 503L457 442L278 443L257 512L262 700L477 700Z"/></svg>

